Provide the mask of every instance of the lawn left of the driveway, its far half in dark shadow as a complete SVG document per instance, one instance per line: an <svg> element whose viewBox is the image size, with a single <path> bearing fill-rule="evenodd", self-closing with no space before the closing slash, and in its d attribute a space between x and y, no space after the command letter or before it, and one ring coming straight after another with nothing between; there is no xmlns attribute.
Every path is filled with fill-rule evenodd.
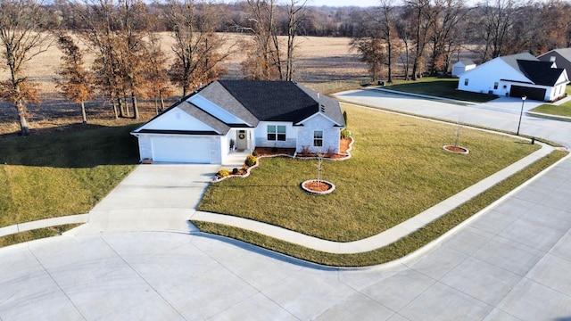
<svg viewBox="0 0 571 321"><path fill-rule="evenodd" d="M137 125L0 138L0 226L86 213L134 169Z"/></svg>

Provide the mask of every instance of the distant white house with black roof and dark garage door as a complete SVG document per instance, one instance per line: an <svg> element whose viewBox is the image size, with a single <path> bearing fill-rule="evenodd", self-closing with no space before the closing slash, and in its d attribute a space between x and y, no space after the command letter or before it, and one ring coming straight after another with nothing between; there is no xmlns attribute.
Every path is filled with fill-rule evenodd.
<svg viewBox="0 0 571 321"><path fill-rule="evenodd" d="M459 90L553 101L565 95L567 71L542 62L530 53L517 53L484 62L459 76Z"/></svg>

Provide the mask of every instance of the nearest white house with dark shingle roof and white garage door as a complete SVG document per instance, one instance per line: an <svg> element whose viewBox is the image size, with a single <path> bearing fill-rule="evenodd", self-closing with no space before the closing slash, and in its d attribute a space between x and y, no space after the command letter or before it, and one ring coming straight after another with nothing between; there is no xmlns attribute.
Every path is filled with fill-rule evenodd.
<svg viewBox="0 0 571 321"><path fill-rule="evenodd" d="M141 161L224 164L235 150L339 152L339 103L289 81L218 80L149 120Z"/></svg>

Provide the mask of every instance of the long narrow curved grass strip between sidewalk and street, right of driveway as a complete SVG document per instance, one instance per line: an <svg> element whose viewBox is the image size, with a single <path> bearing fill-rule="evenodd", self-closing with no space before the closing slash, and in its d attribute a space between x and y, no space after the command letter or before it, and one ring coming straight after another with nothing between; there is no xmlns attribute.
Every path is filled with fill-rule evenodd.
<svg viewBox="0 0 571 321"><path fill-rule="evenodd" d="M419 248L425 246L427 243L432 242L439 236L449 231L452 227L458 226L459 223L463 222L467 218L470 218L479 210L483 210L492 202L500 199L501 196L509 193L509 191L534 177L543 169L547 169L550 167L550 165L556 161L559 161L566 155L567 152L551 152L550 155L534 162L534 164L519 171L517 174L502 181L498 185L492 186L492 188L488 189L484 193L477 195L475 198L460 205L455 210L451 210L443 217L434 220L427 226L402 238L395 243L375 251L355 254L327 253L322 251L315 251L292 243L286 243L266 235L260 235L255 232L246 231L233 226L224 226L201 221L193 221L193 223L198 226L198 228L200 228L200 230L204 233L232 237L246 243L252 243L272 251L277 251L289 256L293 256L295 258L305 259L323 265L336 267L364 267L377 265L392 261L394 259L399 259L413 251L418 250Z"/></svg>

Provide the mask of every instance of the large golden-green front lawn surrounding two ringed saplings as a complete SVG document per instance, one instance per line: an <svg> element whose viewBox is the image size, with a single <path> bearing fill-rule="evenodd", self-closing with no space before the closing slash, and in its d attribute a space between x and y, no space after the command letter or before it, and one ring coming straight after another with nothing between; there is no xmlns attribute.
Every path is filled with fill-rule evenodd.
<svg viewBox="0 0 571 321"><path fill-rule="evenodd" d="M247 178L212 184L199 210L252 218L322 239L349 242L377 235L539 148L462 128L468 155L443 151L455 126L343 105L356 139L352 159L325 163L334 193L304 193L315 161L263 159Z"/></svg>

